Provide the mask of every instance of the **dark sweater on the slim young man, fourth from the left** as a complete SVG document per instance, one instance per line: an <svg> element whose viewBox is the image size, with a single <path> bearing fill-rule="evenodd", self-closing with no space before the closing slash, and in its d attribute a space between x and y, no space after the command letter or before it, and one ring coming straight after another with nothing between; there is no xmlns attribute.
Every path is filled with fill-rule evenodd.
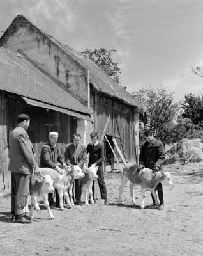
<svg viewBox="0 0 203 256"><path fill-rule="evenodd" d="M104 161L103 156L103 145L98 143L96 146L93 146L92 143L87 145L87 154L89 153L89 163L88 167L92 164L102 166L102 161Z"/></svg>

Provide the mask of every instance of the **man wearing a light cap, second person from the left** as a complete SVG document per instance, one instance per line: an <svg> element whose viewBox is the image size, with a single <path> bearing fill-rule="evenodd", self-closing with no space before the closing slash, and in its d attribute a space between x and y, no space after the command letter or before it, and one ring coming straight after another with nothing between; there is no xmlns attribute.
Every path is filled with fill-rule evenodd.
<svg viewBox="0 0 203 256"><path fill-rule="evenodd" d="M64 163L63 156L61 154L61 148L57 145L59 134L57 132L50 132L49 133L49 142L43 145L41 149L41 157L40 157L40 168L48 167L52 169L56 169L59 174L63 174L63 171L57 163L63 165L63 168L66 168L66 164ZM56 192L56 207L59 208L59 194L57 189ZM52 193L48 194L48 201L50 206L54 206L54 199Z"/></svg>

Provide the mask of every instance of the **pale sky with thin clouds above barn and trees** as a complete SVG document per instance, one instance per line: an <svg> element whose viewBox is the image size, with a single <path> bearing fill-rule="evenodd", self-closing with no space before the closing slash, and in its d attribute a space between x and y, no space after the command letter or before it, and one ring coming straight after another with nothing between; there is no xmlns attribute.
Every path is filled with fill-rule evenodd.
<svg viewBox="0 0 203 256"><path fill-rule="evenodd" d="M76 51L116 49L128 92L203 94L203 0L0 0L0 31L17 14Z"/></svg>

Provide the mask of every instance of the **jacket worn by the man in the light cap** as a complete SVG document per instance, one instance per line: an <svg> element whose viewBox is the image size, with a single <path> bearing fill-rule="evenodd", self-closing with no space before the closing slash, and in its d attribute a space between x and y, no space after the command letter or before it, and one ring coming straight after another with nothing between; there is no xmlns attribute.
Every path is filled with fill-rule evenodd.
<svg viewBox="0 0 203 256"><path fill-rule="evenodd" d="M64 162L59 145L56 144L56 147L52 147L50 143L43 145L41 149L40 167L56 168L58 162L60 164Z"/></svg>

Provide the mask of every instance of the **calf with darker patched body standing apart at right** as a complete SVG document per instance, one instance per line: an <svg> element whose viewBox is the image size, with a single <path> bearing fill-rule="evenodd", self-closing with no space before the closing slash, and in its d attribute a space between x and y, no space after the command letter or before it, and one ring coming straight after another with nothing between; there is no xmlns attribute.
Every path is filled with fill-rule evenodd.
<svg viewBox="0 0 203 256"><path fill-rule="evenodd" d="M156 186L159 182L163 185L171 186L172 180L169 172L153 172L153 170L144 168L142 170L137 170L136 164L129 164L123 168L123 176L121 179L121 186L119 188L119 198L118 203L121 204L121 195L123 193L124 186L126 182L130 180L130 195L133 204L135 203L135 195L133 188L135 185L141 186L142 192L142 203L140 205L141 209L144 209L144 200L146 198L146 191L149 190L154 196L156 205L158 205L158 200L156 196Z"/></svg>

